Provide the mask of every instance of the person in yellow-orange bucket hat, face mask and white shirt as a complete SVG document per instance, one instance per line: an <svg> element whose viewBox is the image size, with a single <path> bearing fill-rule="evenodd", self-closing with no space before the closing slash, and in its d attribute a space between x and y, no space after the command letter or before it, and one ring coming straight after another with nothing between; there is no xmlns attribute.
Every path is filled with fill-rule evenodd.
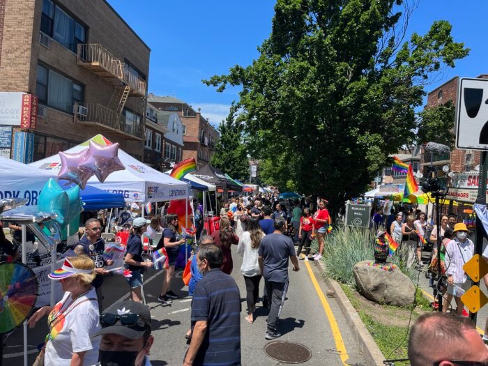
<svg viewBox="0 0 488 366"><path fill-rule="evenodd" d="M444 300L443 312L448 311L452 300L452 289L461 287L464 291L471 287L471 278L464 272L463 266L469 261L475 252L475 245L468 239L468 228L466 224L458 222L454 226L455 238L445 246L445 274L448 276L448 293L447 299ZM453 287L454 286L454 287ZM457 303L457 314L462 315L464 304L460 296L455 296Z"/></svg>

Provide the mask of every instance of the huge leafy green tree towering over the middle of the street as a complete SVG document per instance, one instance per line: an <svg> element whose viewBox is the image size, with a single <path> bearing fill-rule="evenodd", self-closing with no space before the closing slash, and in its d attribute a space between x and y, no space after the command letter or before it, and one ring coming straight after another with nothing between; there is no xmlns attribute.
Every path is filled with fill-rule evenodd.
<svg viewBox="0 0 488 366"><path fill-rule="evenodd" d="M404 41L409 2L277 0L259 58L204 80L217 91L242 86L250 154L284 163L276 169L299 192L333 211L413 142L429 75L468 54L445 21Z"/></svg>

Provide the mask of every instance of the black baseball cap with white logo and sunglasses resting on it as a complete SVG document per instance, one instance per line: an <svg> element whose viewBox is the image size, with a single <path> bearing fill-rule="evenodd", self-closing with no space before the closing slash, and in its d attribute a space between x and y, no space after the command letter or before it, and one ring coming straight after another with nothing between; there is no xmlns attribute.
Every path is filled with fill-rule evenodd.
<svg viewBox="0 0 488 366"><path fill-rule="evenodd" d="M102 329L93 337L114 333L137 340L144 333L151 333L151 312L146 305L137 301L119 301L102 312L100 325Z"/></svg>

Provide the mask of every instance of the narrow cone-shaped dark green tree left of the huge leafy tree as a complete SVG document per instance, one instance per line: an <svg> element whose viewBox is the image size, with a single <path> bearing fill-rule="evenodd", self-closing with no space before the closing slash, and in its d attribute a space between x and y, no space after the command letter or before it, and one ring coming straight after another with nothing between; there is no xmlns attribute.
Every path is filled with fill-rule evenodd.
<svg viewBox="0 0 488 366"><path fill-rule="evenodd" d="M238 105L233 102L227 119L220 123L220 137L210 163L243 182L249 178L249 159L243 143L243 121L237 116L238 109Z"/></svg>

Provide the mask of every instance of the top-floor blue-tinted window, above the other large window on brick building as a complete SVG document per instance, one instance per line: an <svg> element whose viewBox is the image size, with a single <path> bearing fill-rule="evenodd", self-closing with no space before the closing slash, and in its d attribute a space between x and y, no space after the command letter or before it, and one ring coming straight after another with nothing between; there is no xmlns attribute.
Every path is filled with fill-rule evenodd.
<svg viewBox="0 0 488 366"><path fill-rule="evenodd" d="M73 52L77 52L79 43L86 42L86 27L61 10L51 0L43 0L40 31Z"/></svg>

